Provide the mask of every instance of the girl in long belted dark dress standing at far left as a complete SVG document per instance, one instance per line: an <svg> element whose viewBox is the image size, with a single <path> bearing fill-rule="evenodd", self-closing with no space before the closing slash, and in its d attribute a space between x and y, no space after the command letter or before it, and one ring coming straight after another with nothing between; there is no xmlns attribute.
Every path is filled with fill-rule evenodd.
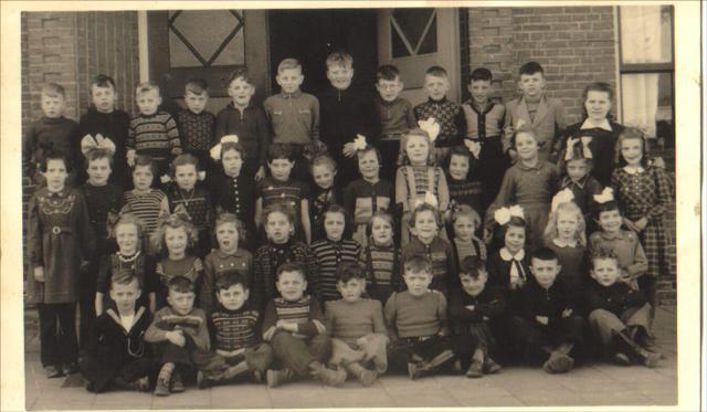
<svg viewBox="0 0 707 412"><path fill-rule="evenodd" d="M46 378L78 371L76 300L78 273L95 246L84 197L65 186L65 155L50 151L40 163L46 181L29 207L28 245L33 276L27 279L30 303L40 315L40 347Z"/></svg>

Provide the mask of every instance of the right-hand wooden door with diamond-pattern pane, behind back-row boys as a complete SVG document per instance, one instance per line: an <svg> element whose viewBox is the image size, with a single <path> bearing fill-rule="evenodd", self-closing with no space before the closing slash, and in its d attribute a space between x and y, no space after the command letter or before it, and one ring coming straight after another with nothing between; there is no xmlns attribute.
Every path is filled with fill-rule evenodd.
<svg viewBox="0 0 707 412"><path fill-rule="evenodd" d="M401 95L413 105L426 99L424 72L432 65L450 76L447 98L461 98L458 10L381 9L378 12L378 62L393 64L401 73Z"/></svg>

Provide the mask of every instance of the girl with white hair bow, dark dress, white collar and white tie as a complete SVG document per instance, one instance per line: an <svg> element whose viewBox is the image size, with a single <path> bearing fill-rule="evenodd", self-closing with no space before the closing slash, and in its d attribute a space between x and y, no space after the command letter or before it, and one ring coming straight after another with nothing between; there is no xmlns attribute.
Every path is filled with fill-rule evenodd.
<svg viewBox="0 0 707 412"><path fill-rule="evenodd" d="M511 294L530 276L530 256L526 254L526 220L523 208L500 208L494 213L497 241L503 247L488 257L488 282Z"/></svg>

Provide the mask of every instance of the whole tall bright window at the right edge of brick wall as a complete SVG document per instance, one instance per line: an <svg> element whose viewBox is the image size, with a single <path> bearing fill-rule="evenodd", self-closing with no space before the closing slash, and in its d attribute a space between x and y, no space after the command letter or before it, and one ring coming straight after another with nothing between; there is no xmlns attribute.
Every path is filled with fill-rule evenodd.
<svg viewBox="0 0 707 412"><path fill-rule="evenodd" d="M622 123L675 142L673 7L619 8Z"/></svg>

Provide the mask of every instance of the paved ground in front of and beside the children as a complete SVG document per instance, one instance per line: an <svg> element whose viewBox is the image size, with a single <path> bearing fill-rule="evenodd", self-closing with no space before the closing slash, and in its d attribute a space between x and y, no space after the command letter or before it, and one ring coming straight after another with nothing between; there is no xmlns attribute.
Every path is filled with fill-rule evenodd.
<svg viewBox="0 0 707 412"><path fill-rule="evenodd" d="M88 393L77 376L44 379L32 319L27 332L27 409L262 409L262 408L410 408L410 406L544 406L544 405L671 405L677 402L676 310L657 310L655 334L666 359L656 369L592 363L562 376L507 367L482 379L433 377L410 381L384 376L371 388L358 382L327 388L296 382L282 388L233 384L167 398L147 393Z"/></svg>

